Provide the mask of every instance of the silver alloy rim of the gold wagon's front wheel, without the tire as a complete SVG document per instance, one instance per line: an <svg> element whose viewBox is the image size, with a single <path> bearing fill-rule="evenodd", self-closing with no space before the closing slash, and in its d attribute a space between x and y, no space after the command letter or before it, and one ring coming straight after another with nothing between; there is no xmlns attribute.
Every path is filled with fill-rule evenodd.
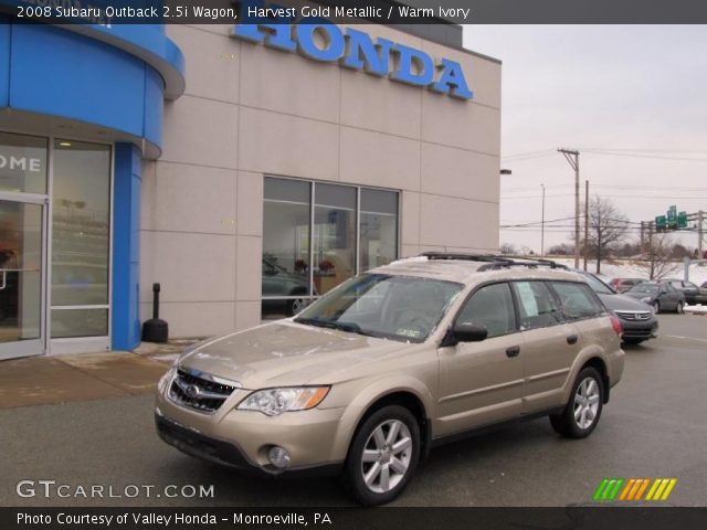
<svg viewBox="0 0 707 530"><path fill-rule="evenodd" d="M398 486L410 467L412 449L412 436L403 422L388 420L378 425L361 455L361 474L368 489L384 494Z"/></svg>

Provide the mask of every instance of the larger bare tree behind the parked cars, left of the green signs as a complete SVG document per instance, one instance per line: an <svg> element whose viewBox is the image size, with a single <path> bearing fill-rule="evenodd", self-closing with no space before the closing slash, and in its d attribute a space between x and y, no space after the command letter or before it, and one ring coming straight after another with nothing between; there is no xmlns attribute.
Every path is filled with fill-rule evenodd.
<svg viewBox="0 0 707 530"><path fill-rule="evenodd" d="M597 274L601 261L613 245L623 241L629 232L629 218L621 213L611 199L594 195L589 201L589 251L597 258Z"/></svg>

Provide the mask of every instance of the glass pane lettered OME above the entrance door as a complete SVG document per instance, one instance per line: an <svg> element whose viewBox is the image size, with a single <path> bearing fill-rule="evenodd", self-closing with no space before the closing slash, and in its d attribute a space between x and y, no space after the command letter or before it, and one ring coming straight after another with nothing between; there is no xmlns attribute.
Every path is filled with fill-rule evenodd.
<svg viewBox="0 0 707 530"><path fill-rule="evenodd" d="M0 132L0 191L46 193L46 138Z"/></svg>

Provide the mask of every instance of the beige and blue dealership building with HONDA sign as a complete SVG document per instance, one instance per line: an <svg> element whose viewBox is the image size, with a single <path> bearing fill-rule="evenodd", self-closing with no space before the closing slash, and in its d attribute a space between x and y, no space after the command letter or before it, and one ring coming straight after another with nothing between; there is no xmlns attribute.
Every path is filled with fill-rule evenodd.
<svg viewBox="0 0 707 530"><path fill-rule="evenodd" d="M243 329L498 247L500 63L462 28L0 14L0 359Z"/></svg>

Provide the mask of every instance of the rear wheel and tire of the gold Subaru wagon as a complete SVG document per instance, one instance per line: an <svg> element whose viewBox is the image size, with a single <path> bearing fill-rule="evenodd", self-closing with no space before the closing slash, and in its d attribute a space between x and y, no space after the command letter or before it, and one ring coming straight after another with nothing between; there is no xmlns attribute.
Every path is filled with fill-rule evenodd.
<svg viewBox="0 0 707 530"><path fill-rule="evenodd" d="M593 383L593 386L592 386ZM580 390L581 389L581 390ZM583 395L589 396L585 401ZM592 434L603 409L604 383L595 368L587 367L572 385L570 401L561 414L550 416L550 424L556 433L567 438L584 438ZM578 400L582 400L578 403ZM576 416L576 411L585 409L580 412L580 416ZM591 413L591 417L588 417Z"/></svg>

